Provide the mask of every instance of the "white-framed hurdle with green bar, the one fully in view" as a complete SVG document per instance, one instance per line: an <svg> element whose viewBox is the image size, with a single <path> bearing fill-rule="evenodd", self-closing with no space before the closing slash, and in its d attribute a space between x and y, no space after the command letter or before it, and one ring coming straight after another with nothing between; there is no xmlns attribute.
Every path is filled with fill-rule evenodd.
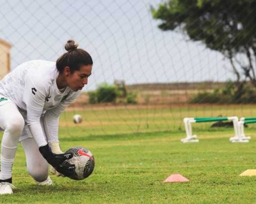
<svg viewBox="0 0 256 204"><path fill-rule="evenodd" d="M240 134L241 130L239 130L238 126L238 117L237 116L231 116L231 117L185 117L183 119L185 130L187 137L181 139L181 142L187 143L187 142L199 142L197 139L197 135L193 135L192 133L192 125L191 123L202 123L202 122L215 122L215 121L233 121L234 126L234 137L231 137L229 140L230 142L248 142L249 139L247 137L242 137ZM255 118L256 121L256 118Z"/></svg>

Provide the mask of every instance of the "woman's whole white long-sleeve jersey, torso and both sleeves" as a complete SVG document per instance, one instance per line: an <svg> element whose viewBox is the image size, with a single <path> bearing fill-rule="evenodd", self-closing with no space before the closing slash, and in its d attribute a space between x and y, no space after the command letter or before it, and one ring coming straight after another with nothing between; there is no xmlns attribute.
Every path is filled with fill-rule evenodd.
<svg viewBox="0 0 256 204"><path fill-rule="evenodd" d="M34 60L19 65L0 81L0 95L18 106L38 147L58 141L59 116L81 92L69 87L60 91L58 75L54 62ZM43 115L44 127L40 123Z"/></svg>

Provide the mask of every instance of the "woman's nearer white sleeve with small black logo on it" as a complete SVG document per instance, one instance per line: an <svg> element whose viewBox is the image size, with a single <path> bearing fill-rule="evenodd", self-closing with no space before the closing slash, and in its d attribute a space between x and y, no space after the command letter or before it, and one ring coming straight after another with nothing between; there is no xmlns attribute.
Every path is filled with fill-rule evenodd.
<svg viewBox="0 0 256 204"><path fill-rule="evenodd" d="M27 124L38 147L47 145L40 123L45 98L47 96L46 87L47 82L44 83L42 80L32 80L31 76L27 75L23 101L27 108Z"/></svg>

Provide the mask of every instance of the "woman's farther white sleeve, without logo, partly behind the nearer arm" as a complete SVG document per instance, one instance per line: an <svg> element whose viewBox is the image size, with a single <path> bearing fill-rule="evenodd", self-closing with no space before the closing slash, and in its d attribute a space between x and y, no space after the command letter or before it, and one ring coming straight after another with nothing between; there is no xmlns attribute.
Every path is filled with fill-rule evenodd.
<svg viewBox="0 0 256 204"><path fill-rule="evenodd" d="M46 111L44 114L44 130L47 137L47 141L49 143L58 142L59 141L59 117L60 114L68 107L70 104L74 103L76 98L79 96L81 91L73 92L67 97L63 98L60 104Z"/></svg>

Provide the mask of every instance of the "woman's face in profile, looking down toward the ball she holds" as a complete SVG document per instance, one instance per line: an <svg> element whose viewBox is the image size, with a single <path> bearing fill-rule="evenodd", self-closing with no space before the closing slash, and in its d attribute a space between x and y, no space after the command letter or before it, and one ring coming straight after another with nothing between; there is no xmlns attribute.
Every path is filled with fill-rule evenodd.
<svg viewBox="0 0 256 204"><path fill-rule="evenodd" d="M84 85L88 82L88 77L92 74L92 65L81 65L80 69L70 73L66 70L66 82L71 90L78 91L83 89Z"/></svg>

